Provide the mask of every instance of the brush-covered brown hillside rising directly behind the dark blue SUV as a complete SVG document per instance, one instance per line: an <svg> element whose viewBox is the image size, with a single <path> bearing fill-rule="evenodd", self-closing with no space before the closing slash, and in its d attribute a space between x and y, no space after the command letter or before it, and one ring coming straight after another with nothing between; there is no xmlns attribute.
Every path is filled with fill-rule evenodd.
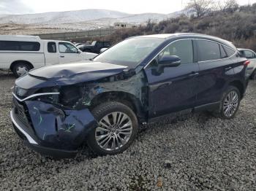
<svg viewBox="0 0 256 191"><path fill-rule="evenodd" d="M119 30L104 39L115 43L129 36L179 32L219 36L237 47L256 51L256 4L238 7L234 12L213 11L203 17L180 15L159 23L150 22L140 28Z"/></svg>

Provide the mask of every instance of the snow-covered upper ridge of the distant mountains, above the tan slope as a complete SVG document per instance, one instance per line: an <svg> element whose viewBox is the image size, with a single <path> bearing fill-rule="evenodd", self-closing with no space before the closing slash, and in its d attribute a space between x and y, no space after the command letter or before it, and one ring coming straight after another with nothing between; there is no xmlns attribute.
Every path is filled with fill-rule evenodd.
<svg viewBox="0 0 256 191"><path fill-rule="evenodd" d="M84 9L78 11L67 12L45 12L27 15L0 15L0 23L17 23L17 24L43 24L54 25L63 23L81 23L92 20L105 19L106 22L127 22L127 23L145 23L148 19L156 22L174 17L177 14L128 14L125 12L117 12L105 9ZM107 19L107 20L106 20ZM108 19L110 19L108 21Z"/></svg>

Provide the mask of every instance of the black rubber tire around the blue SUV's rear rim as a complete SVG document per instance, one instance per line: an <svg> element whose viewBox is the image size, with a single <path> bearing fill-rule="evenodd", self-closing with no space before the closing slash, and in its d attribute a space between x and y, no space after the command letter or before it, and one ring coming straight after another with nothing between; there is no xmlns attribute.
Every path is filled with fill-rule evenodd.
<svg viewBox="0 0 256 191"><path fill-rule="evenodd" d="M236 106L236 109L234 110L233 114L231 114L230 116L227 116L224 112L224 102L225 102L225 98L227 97L227 95L230 93L230 92L235 92L237 95L238 95L238 105ZM220 102L220 106L219 106L219 110L218 111L215 111L214 112L214 115L216 117L220 117L222 119L231 119L233 117L235 117L236 115L236 112L238 111L238 108L240 106L240 101L241 101L241 93L240 91L238 90L237 87L235 86L228 86L227 87L227 90L225 91L225 93L223 93L222 95L222 100Z"/></svg>

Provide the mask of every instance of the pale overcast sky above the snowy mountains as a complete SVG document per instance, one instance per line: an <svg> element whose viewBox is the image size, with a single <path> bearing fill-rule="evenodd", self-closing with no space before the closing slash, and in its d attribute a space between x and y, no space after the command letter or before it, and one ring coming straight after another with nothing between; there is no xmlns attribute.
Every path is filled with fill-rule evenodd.
<svg viewBox="0 0 256 191"><path fill-rule="evenodd" d="M110 9L131 14L171 13L186 7L189 0L0 0L0 15L61 12L79 9ZM214 0L219 1L219 0ZM256 0L238 0L238 4Z"/></svg>

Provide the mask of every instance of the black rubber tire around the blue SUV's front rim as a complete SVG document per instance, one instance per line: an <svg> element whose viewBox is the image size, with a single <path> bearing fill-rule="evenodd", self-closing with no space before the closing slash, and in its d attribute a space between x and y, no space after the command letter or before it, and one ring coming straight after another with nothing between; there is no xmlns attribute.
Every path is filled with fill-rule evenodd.
<svg viewBox="0 0 256 191"><path fill-rule="evenodd" d="M132 111L132 109L130 109L129 106L127 105L121 104L117 101L110 101L103 104L99 104L99 106L96 106L91 111L91 113L94 115L95 119L98 122L102 119L102 117L105 117L106 115L111 114L112 112L122 112L124 114L127 114L127 116L132 122L132 133L128 141L122 147L114 150L106 150L102 149L102 147L100 147L97 143L95 133L97 127L93 128L89 132L86 141L91 150L97 155L116 155L120 152L124 152L124 150L126 150L132 144L132 142L135 140L138 134L138 119L135 113Z"/></svg>

